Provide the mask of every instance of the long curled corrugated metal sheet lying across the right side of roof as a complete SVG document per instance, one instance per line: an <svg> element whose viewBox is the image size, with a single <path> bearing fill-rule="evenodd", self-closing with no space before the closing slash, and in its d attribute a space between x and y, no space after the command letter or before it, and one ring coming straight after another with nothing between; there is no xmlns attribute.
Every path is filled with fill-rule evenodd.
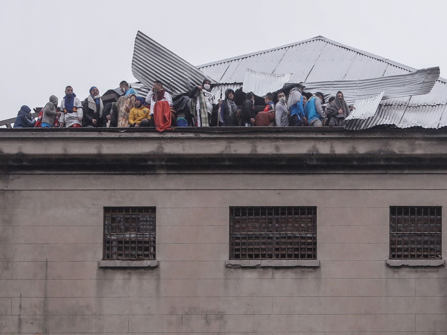
<svg viewBox="0 0 447 335"><path fill-rule="evenodd" d="M439 67L417 70L404 75L368 78L362 80L333 80L304 83L305 92L322 92L326 96L342 91L346 102L352 104L358 99L367 99L384 91L384 99L404 95L426 94L431 91L439 78Z"/></svg>

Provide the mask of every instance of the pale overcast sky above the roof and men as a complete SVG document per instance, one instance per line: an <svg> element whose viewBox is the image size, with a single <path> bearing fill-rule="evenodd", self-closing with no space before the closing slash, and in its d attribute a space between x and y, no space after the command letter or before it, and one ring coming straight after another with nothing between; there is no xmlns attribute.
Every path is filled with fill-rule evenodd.
<svg viewBox="0 0 447 335"><path fill-rule="evenodd" d="M135 81L138 30L193 65L318 35L447 77L447 1L0 0L0 120Z"/></svg>

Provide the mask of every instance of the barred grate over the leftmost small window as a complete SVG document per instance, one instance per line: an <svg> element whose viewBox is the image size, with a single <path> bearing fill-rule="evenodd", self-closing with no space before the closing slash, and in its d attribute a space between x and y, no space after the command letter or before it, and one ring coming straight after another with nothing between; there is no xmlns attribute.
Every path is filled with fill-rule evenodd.
<svg viewBox="0 0 447 335"><path fill-rule="evenodd" d="M155 207L104 208L104 260L155 260Z"/></svg>

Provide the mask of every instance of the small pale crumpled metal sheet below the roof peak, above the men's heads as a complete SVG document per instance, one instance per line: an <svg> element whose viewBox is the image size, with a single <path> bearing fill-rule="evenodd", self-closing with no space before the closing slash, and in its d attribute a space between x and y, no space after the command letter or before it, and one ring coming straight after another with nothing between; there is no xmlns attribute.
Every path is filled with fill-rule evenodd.
<svg viewBox="0 0 447 335"><path fill-rule="evenodd" d="M253 92L257 96L264 96L267 92L275 92L283 88L289 79L290 73L276 75L247 69L242 89L244 92Z"/></svg>

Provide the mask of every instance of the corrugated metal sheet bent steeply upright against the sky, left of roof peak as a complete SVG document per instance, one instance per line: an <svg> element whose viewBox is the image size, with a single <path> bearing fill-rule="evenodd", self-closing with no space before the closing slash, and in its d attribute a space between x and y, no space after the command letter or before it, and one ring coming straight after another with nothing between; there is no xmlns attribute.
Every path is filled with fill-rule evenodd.
<svg viewBox="0 0 447 335"><path fill-rule="evenodd" d="M148 88L152 87L154 80L161 80L173 96L188 92L208 77L140 31L135 38L132 73ZM209 79L216 83L212 78Z"/></svg>

